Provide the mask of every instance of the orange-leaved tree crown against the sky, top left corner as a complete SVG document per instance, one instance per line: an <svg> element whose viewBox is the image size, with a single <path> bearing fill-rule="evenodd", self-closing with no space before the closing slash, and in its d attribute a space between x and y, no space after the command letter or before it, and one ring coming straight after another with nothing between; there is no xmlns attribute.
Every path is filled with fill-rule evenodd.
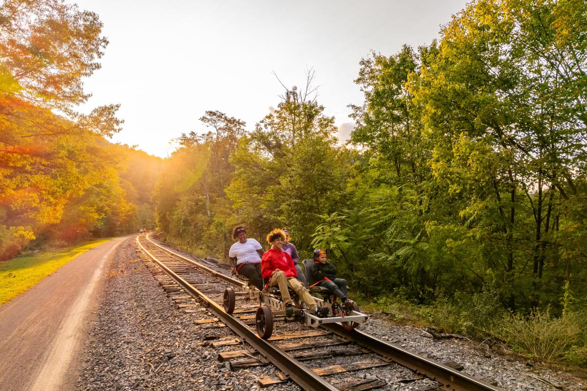
<svg viewBox="0 0 587 391"><path fill-rule="evenodd" d="M57 107L85 102L81 79L100 68L95 60L108 43L96 14L60 0L13 0L0 7L0 20L2 63L27 99Z"/></svg>

